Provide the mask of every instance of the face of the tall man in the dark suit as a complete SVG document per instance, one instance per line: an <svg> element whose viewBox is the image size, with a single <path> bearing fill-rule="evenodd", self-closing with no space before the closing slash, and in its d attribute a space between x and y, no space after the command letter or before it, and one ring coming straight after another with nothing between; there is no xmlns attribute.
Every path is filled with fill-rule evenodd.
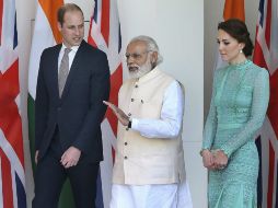
<svg viewBox="0 0 278 208"><path fill-rule="evenodd" d="M58 23L63 44L70 48L79 46L84 37L84 18L80 11L67 11L63 23Z"/></svg>

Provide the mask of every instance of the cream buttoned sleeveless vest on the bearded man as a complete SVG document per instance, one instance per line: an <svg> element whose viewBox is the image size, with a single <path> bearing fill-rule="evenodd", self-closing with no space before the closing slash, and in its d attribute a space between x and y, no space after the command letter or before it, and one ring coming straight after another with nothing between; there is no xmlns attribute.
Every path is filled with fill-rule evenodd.
<svg viewBox="0 0 278 208"><path fill-rule="evenodd" d="M174 79L154 68L119 91L118 105L131 118L160 119L163 96ZM177 138L147 138L118 123L113 183L129 185L179 183L185 177L181 134Z"/></svg>

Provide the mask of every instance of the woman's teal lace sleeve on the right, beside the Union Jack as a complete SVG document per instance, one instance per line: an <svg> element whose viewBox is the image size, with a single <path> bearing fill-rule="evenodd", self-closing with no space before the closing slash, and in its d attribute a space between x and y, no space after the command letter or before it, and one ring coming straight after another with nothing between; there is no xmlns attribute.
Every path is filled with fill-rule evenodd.
<svg viewBox="0 0 278 208"><path fill-rule="evenodd" d="M266 70L262 70L254 83L251 116L248 122L242 127L239 134L234 135L228 142L220 147L221 150L230 158L240 147L253 139L255 132L264 123L265 114L269 100L269 76Z"/></svg>

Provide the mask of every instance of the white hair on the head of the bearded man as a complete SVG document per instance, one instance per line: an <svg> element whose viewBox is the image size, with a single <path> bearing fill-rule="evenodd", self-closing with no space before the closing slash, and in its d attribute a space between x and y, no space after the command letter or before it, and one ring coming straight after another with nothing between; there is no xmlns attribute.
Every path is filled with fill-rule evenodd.
<svg viewBox="0 0 278 208"><path fill-rule="evenodd" d="M147 44L147 50L148 51L158 53L158 60L155 62L155 66L158 66L159 63L161 63L163 61L163 57L160 54L159 46L158 46L157 42L153 38L151 38L150 36L147 36L147 35L139 35L139 36L134 37L129 42L129 44L131 44L134 42L144 42Z"/></svg>

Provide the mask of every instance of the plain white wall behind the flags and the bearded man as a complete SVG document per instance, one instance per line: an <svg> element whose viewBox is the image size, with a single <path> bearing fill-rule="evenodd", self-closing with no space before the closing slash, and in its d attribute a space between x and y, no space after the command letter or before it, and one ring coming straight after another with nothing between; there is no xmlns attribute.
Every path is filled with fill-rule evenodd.
<svg viewBox="0 0 278 208"><path fill-rule="evenodd" d="M22 119L26 155L28 152L27 67L32 39L32 19L35 18L36 9L35 2L36 0L16 1ZM66 2L79 4L84 12L85 20L90 20L93 1L66 0ZM158 42L164 57L161 68L173 74L185 85L183 139L187 177L194 207L206 207L207 176L201 165L201 158L198 154L201 146L204 117L204 1L118 0L118 4L123 48L126 48L128 41L136 35L152 36ZM30 161L27 157L26 161ZM30 170L30 163L26 163L26 170ZM33 197L33 181L30 172L26 175L26 188L30 205Z"/></svg>

